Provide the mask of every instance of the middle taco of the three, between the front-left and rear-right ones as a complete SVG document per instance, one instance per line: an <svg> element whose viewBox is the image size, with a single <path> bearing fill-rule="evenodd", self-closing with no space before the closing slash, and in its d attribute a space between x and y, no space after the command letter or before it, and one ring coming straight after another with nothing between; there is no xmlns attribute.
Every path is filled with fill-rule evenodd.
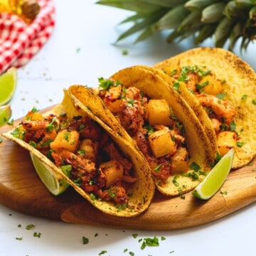
<svg viewBox="0 0 256 256"><path fill-rule="evenodd" d="M196 114L176 90L140 66L99 80L100 87L93 89L95 95L79 85L70 87L70 94L85 106L86 99L93 97L98 114L112 112L114 118L105 122L113 129L122 124L119 134L142 151L161 193L178 196L203 180L217 152Z"/></svg>

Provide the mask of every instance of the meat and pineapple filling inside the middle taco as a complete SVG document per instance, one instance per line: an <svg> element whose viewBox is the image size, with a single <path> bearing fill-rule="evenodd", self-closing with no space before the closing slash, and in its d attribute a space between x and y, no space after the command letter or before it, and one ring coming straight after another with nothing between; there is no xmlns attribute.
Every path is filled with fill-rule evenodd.
<svg viewBox="0 0 256 256"><path fill-rule="evenodd" d="M106 86L107 85L107 86ZM186 175L188 149L179 122L166 100L153 100L137 87L100 78L99 96L137 142L159 185L170 175Z"/></svg>

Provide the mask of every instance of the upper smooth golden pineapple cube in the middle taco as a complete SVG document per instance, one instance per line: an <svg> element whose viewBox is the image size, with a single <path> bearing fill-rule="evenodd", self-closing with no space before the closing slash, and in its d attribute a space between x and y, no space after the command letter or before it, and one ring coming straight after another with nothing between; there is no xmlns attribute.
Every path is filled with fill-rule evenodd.
<svg viewBox="0 0 256 256"><path fill-rule="evenodd" d="M173 124L170 107L166 100L149 100L147 117L150 125L163 124L168 126Z"/></svg>

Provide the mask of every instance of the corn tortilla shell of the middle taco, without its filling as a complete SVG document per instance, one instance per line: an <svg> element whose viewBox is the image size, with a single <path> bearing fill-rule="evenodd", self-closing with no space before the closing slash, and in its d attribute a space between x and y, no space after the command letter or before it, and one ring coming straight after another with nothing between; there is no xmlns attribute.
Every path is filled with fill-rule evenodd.
<svg viewBox="0 0 256 256"><path fill-rule="evenodd" d="M216 152L213 151L210 146L209 139L202 127L201 122L198 121L196 114L191 110L191 107L178 95L168 83L164 82L158 75L149 72L148 70L134 66L130 68L124 68L119 70L111 77L114 80L119 80L124 87L137 87L142 90L152 99L165 99L169 102L170 107L174 111L177 119L183 123L186 130L186 143L188 144L188 151L191 156L190 162L196 162L201 166L201 171L208 172L211 164L215 161ZM87 99L92 97L95 102L94 107L97 108L97 116L104 122L106 122L113 129L117 129L120 136L127 139L127 142L134 144L134 140L129 137L129 134L120 127L117 119L112 115L110 110L105 107L105 103L94 95L91 90L81 85L75 85L69 88L71 95L73 95L78 102L87 106ZM101 112L107 112L105 117L109 117L105 120L100 116ZM190 170L189 173L193 173ZM198 179L191 177L178 175L169 176L166 181L166 186L159 186L156 183L158 190L166 196L178 196L181 193L191 191L200 181L205 177L198 174ZM174 177L175 181L174 182ZM176 186L177 183L179 186Z"/></svg>

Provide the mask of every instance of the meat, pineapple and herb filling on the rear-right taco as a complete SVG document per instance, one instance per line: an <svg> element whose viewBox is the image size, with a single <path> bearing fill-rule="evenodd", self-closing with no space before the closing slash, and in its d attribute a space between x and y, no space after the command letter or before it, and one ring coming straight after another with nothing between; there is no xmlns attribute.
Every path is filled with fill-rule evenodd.
<svg viewBox="0 0 256 256"><path fill-rule="evenodd" d="M225 80L219 80L211 70L200 66L184 66L170 69L171 77L185 82L208 114L217 136L220 156L238 144L239 134L235 127L235 107L225 100Z"/></svg>

